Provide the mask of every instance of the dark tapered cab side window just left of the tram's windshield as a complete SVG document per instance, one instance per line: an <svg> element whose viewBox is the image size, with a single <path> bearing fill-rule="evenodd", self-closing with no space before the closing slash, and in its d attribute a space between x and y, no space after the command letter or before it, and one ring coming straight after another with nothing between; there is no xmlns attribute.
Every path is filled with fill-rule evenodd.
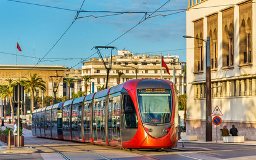
<svg viewBox="0 0 256 160"><path fill-rule="evenodd" d="M123 96L123 118L126 128L138 128L138 117L130 95Z"/></svg>

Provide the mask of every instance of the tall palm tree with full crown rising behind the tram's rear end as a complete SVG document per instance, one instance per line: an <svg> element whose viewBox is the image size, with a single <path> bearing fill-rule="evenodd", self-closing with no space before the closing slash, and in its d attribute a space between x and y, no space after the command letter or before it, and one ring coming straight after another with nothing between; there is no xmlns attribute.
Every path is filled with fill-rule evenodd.
<svg viewBox="0 0 256 160"><path fill-rule="evenodd" d="M30 73L30 79L27 78L27 77L23 77L26 79L25 83L27 84L27 86L30 88L31 90L31 104L30 104L30 110L31 110L31 113L33 113L34 111L34 98L35 98L35 91L36 91L36 88L39 88L43 91L46 91L46 86L45 86L45 83L43 81L43 79L41 78L41 76L38 76L38 74L34 73L31 75Z"/></svg>

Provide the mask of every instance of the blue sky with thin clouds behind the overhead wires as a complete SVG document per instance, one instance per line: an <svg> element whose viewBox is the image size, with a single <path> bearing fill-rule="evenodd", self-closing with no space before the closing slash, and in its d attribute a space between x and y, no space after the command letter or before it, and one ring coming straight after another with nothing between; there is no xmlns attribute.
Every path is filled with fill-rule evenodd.
<svg viewBox="0 0 256 160"><path fill-rule="evenodd" d="M21 2L30 2L44 6L35 6ZM89 11L133 11L152 14L167 1L137 0L137 1L92 1L85 0L81 10ZM69 68L81 68L81 60L88 57L98 57L94 46L106 46L126 31L137 25L145 14L119 14L80 12L78 17L93 15L94 17L78 18L72 24L76 12L83 0L20 0L20 2L0 1L0 63L15 65L16 52L19 55L18 65L65 65ZM154 15L168 15L188 7L187 0L171 0ZM60 39L60 37L64 36ZM180 55L180 61L186 62L186 12L168 16L147 18L121 38L109 44L119 50L126 49L134 54ZM60 41L56 44L56 42ZM17 51L17 41L22 52ZM35 62L33 46L35 43ZM54 46L56 44L56 46ZM54 46L54 47L53 47ZM53 48L52 48L53 47ZM49 50L52 50L49 52ZM171 51L173 50L173 51ZM104 51L109 54L109 51ZM102 54L106 54L102 52ZM47 55L46 55L47 54ZM117 55L117 51L114 51ZM27 56L27 57L24 57ZM44 57L45 56L45 57ZM44 57L44 58L43 58ZM41 59L43 58L43 60ZM67 60L64 60L64 59ZM73 60L70 60L73 58Z"/></svg>

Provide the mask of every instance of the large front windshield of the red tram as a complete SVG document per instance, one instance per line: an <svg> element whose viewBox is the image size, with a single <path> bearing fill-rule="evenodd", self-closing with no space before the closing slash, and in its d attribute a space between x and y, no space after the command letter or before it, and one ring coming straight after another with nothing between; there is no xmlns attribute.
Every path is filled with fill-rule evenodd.
<svg viewBox="0 0 256 160"><path fill-rule="evenodd" d="M143 122L154 125L170 122L173 106L170 89L138 89L138 103Z"/></svg>

